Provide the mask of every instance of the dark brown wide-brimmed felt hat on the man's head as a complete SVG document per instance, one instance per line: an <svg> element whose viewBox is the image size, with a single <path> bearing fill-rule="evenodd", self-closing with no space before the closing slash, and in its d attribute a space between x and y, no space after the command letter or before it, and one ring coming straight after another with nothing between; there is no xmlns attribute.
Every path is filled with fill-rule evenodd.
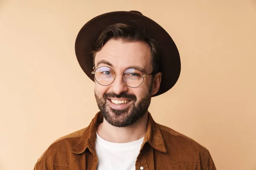
<svg viewBox="0 0 256 170"><path fill-rule="evenodd" d="M132 22L136 21L136 22ZM160 47L160 71L162 81L160 89L154 96L171 89L180 76L180 55L170 35L156 22L145 17L138 11L115 11L99 15L88 21L76 37L75 50L79 65L84 73L94 81L93 45L99 38L102 30L115 23L142 26L147 37L153 38Z"/></svg>

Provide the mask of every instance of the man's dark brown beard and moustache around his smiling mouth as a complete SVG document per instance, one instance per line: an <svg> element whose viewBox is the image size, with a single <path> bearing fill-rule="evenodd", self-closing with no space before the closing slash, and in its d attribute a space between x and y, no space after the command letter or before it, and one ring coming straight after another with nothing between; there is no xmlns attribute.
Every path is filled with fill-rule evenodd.
<svg viewBox="0 0 256 170"><path fill-rule="evenodd" d="M140 101L137 101L135 95L127 94L126 92L122 92L121 94L105 93L101 97L94 91L94 96L102 116L110 125L115 127L128 127L133 125L147 113L151 102L151 91L152 85L150 86L148 93L145 94ZM111 108L108 104L107 100L109 98L125 98L131 100L130 102L133 103L131 103L128 108L117 110Z"/></svg>

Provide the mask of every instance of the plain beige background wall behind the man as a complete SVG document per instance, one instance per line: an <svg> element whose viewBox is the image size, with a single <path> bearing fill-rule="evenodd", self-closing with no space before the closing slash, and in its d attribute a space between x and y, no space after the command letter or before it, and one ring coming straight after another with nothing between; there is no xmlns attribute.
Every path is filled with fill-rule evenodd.
<svg viewBox="0 0 256 170"><path fill-rule="evenodd" d="M218 170L256 170L255 0L0 0L0 170L33 169L89 124L94 84L74 42L92 17L119 10L155 20L180 51L179 81L152 99L155 121L207 147Z"/></svg>

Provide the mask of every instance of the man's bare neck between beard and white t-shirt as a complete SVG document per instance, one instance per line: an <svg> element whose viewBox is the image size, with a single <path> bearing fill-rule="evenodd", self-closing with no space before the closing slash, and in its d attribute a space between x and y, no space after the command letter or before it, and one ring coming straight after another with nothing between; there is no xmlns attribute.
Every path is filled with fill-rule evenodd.
<svg viewBox="0 0 256 170"><path fill-rule="evenodd" d="M136 123L128 127L114 127L105 119L97 126L97 133L108 142L127 143L141 139L145 136L148 125L148 113Z"/></svg>

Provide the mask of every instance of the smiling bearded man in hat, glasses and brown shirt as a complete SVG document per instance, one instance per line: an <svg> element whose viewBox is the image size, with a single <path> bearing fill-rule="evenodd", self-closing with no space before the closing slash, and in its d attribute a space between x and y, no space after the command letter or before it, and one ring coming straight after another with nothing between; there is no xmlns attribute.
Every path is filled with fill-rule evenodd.
<svg viewBox="0 0 256 170"><path fill-rule="evenodd" d="M138 11L93 18L76 39L76 56L95 81L100 109L90 125L55 141L35 170L215 170L209 151L159 125L152 96L172 88L180 57L169 34Z"/></svg>

